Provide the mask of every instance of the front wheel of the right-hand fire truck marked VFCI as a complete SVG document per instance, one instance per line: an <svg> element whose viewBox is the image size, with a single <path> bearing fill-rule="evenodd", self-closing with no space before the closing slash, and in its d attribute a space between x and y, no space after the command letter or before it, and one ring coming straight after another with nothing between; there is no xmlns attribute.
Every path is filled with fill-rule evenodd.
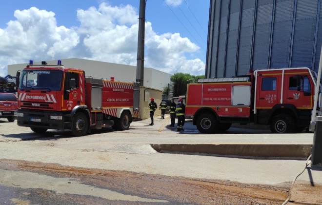
<svg viewBox="0 0 322 205"><path fill-rule="evenodd" d="M270 129L272 133L292 133L295 132L295 123L289 115L280 114L272 119Z"/></svg>

